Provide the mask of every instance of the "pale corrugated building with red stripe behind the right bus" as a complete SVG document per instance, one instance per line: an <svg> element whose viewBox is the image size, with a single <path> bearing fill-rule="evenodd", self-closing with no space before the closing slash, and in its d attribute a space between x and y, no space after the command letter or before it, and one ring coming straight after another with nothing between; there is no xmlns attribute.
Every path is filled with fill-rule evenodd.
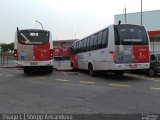
<svg viewBox="0 0 160 120"><path fill-rule="evenodd" d="M122 24L141 25L141 12L115 15L114 23L118 24L119 20L121 20ZM160 10L142 12L142 25L148 31L151 52L160 52Z"/></svg>

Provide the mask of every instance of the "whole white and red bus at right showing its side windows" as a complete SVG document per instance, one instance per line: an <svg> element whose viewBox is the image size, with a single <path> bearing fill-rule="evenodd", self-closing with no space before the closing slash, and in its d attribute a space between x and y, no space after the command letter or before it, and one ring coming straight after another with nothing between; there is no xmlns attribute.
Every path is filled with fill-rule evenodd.
<svg viewBox="0 0 160 120"><path fill-rule="evenodd" d="M144 26L110 25L75 41L70 48L71 67L123 75L127 70L147 69L150 64L150 41Z"/></svg>

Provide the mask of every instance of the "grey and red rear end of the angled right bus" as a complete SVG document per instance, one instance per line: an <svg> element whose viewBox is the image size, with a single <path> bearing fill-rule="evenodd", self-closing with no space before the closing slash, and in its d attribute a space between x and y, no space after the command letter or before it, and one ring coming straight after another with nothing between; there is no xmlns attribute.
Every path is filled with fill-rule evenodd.
<svg viewBox="0 0 160 120"><path fill-rule="evenodd" d="M129 66L126 69L149 67L150 44L143 26L115 25L115 63ZM125 64L124 64L125 63ZM133 64L130 64L133 63Z"/></svg>

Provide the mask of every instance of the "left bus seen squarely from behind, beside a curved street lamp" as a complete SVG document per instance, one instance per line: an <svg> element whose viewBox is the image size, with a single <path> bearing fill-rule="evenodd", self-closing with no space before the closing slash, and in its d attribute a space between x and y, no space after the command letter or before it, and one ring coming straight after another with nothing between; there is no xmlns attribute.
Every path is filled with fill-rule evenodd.
<svg viewBox="0 0 160 120"><path fill-rule="evenodd" d="M14 44L15 66L24 73L35 70L53 70L53 42L51 32L39 29L19 30Z"/></svg>

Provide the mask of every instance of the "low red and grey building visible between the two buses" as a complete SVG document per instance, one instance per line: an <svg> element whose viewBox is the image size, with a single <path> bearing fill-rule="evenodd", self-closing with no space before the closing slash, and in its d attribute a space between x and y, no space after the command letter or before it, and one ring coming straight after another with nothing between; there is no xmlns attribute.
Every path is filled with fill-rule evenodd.
<svg viewBox="0 0 160 120"><path fill-rule="evenodd" d="M54 49L53 57L54 57L55 68L68 69L70 67L69 47L76 40L78 39L53 41L53 49Z"/></svg>

